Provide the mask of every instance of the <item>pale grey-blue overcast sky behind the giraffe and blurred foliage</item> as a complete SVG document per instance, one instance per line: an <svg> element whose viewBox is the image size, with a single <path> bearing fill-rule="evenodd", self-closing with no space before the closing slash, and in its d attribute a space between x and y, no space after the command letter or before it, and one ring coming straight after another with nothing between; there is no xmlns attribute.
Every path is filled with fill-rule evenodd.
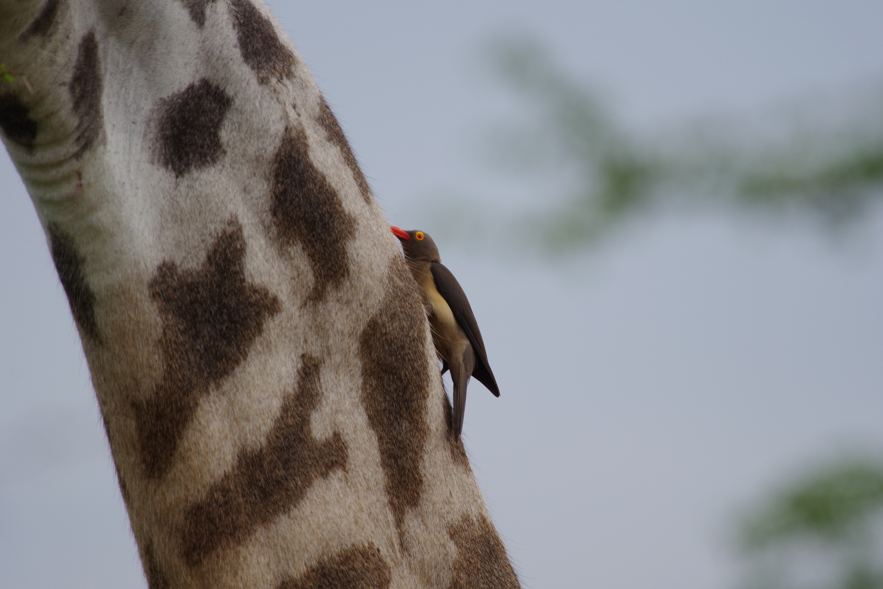
<svg viewBox="0 0 883 589"><path fill-rule="evenodd" d="M503 109L489 35L526 31L637 129L883 81L879 2L275 2L391 223L457 190ZM0 587L144 587L76 329L0 158ZM740 510L808 464L883 452L883 214L838 240L712 214L556 264L439 239L502 396L464 439L525 587L728 589Z"/></svg>

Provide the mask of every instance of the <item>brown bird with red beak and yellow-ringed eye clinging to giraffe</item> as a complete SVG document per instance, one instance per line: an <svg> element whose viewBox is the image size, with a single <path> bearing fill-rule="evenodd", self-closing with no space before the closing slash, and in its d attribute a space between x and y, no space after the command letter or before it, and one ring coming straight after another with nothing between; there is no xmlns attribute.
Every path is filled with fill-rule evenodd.
<svg viewBox="0 0 883 589"><path fill-rule="evenodd" d="M474 376L494 396L500 396L479 324L457 278L442 264L433 238L425 231L390 229L402 242L404 259L423 294L435 351L442 359L442 374L450 370L454 382L454 435L459 438L469 377Z"/></svg>

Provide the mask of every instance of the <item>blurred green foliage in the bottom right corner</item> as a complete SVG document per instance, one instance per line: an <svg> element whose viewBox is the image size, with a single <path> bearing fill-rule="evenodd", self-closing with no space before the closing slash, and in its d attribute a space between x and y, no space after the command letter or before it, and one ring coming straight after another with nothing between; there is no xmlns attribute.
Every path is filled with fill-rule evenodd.
<svg viewBox="0 0 883 589"><path fill-rule="evenodd" d="M827 464L745 517L740 546L751 589L883 587L883 464Z"/></svg>

